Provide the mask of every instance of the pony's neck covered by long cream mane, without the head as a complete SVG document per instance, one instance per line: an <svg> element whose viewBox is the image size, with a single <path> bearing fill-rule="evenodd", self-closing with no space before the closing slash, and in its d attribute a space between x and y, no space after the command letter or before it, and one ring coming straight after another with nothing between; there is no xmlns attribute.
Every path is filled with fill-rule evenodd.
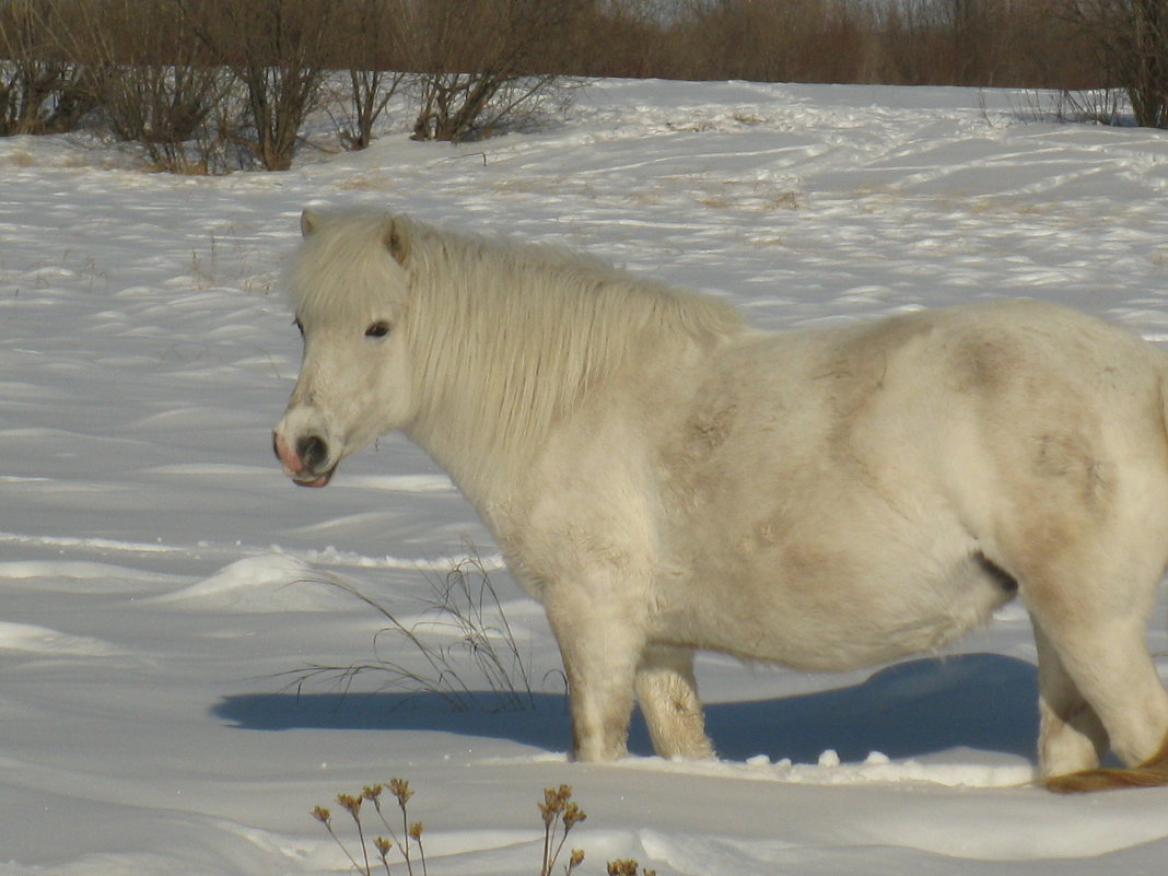
<svg viewBox="0 0 1168 876"><path fill-rule="evenodd" d="M406 431L480 509L591 394L742 331L711 297L590 259L447 236L418 243L419 405Z"/></svg>

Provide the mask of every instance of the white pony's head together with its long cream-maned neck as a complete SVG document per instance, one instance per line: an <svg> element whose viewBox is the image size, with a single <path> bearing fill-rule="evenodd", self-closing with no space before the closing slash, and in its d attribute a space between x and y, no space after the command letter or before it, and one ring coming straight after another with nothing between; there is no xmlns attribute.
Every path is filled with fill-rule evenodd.
<svg viewBox="0 0 1168 876"><path fill-rule="evenodd" d="M517 472L590 394L742 331L729 305L576 253L391 215L301 217L304 364L273 436L298 484L402 429L468 479ZM457 468L458 471L454 471Z"/></svg>

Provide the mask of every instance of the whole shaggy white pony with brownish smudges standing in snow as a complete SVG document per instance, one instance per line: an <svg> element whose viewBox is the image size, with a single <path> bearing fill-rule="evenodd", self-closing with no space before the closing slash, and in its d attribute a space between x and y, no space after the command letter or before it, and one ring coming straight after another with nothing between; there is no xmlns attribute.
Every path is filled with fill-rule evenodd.
<svg viewBox="0 0 1168 876"><path fill-rule="evenodd" d="M763 333L558 250L301 227L285 472L324 486L392 429L429 451L547 610L576 758L625 752L634 691L658 753L712 757L697 648L849 669L1020 596L1047 784L1168 784L1163 353L1035 301Z"/></svg>

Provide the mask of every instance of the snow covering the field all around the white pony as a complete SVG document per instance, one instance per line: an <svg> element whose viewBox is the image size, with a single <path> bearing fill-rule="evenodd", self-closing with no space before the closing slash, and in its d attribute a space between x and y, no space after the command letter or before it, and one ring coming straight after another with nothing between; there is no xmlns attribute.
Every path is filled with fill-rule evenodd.
<svg viewBox="0 0 1168 876"><path fill-rule="evenodd" d="M1016 605L948 654L837 676L705 655L721 762L651 757L638 723L627 760L570 764L542 613L424 453L389 436L301 491L270 449L299 361L279 276L308 204L570 245L766 328L1031 296L1168 342L1168 138L1024 121L1030 99L603 82L542 131L398 132L222 179L0 140L0 876L345 872L310 812L391 777L436 876L536 872L536 802L563 783L589 814L584 874L1161 872L1168 791L1028 784ZM427 602L473 557L534 709L492 710L470 661L484 708L465 711L377 673L305 676L416 661L350 590L457 644ZM1161 655L1164 614L1161 597Z"/></svg>

